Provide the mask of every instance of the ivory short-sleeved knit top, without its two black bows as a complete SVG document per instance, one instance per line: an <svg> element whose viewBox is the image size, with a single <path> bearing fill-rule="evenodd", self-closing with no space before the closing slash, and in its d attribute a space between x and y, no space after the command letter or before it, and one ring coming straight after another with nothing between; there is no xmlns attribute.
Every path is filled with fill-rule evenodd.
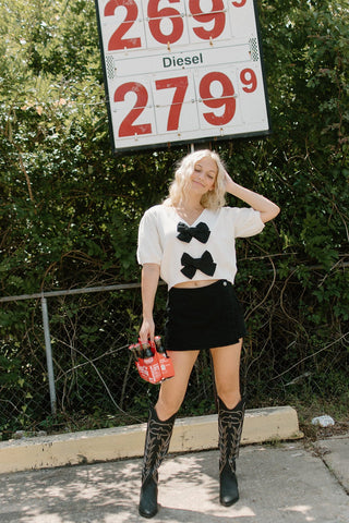
<svg viewBox="0 0 349 523"><path fill-rule="evenodd" d="M205 223L209 236L205 243L192 238L188 243L178 235L178 224L195 228ZM237 273L236 238L253 236L264 228L261 214L251 207L221 207L217 210L204 209L195 222L185 223L173 207L155 205L143 215L139 229L137 260L140 265L157 264L160 277L168 289L183 281L228 280L234 281ZM183 253L198 259L207 252L214 262L214 272L209 276L201 269L193 269L194 276L186 277L183 270ZM212 272L212 271L210 271Z"/></svg>

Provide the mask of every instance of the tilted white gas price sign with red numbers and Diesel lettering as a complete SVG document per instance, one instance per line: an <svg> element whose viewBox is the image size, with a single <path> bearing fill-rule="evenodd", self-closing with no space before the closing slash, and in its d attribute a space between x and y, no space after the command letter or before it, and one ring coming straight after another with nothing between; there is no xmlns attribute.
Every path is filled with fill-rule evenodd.
<svg viewBox="0 0 349 523"><path fill-rule="evenodd" d="M255 0L96 0L115 150L268 134Z"/></svg>

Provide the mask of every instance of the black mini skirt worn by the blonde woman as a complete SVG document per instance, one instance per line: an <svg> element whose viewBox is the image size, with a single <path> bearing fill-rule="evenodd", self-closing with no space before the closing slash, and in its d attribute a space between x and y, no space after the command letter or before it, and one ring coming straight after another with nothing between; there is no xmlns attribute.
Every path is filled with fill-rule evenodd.
<svg viewBox="0 0 349 523"><path fill-rule="evenodd" d="M169 290L166 350L197 351L231 345L245 333L243 312L229 281Z"/></svg>

